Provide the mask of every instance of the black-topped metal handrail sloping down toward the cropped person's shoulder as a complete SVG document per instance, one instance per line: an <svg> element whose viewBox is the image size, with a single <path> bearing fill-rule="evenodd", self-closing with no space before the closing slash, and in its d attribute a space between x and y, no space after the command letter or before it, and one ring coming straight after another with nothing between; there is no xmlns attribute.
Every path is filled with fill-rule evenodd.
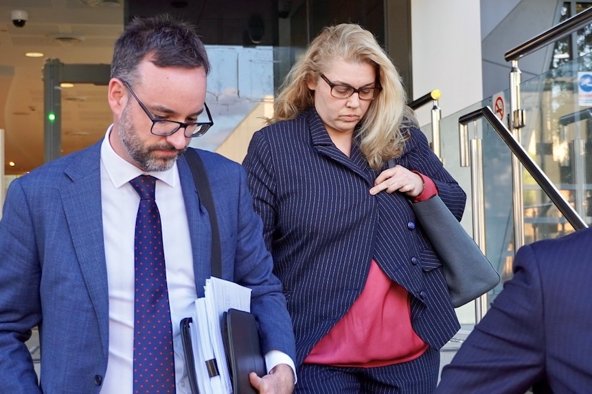
<svg viewBox="0 0 592 394"><path fill-rule="evenodd" d="M538 167L538 164L530 158L527 151L523 148L523 146L514 138L508 127L505 127L502 121L494 114L492 109L489 106L485 106L479 110L470 112L470 114L466 114L459 118L459 124L467 125L470 121L475 121L483 116L488 123L494 128L494 130L499 134L501 139L505 142L506 145L510 148L512 153L520 160L524 168L532 175L536 183L543 189L543 191L549 196L553 204L559 209L559 211L563 214L565 219L573 226L576 230L582 230L584 228L588 228L588 225L584 220L580 217L578 212L573 209L573 207L567 202L567 200L559 193L559 190L555 187L553 182L549 180L547 175L543 173L543 170ZM466 151L465 147L461 147L461 152Z"/></svg>

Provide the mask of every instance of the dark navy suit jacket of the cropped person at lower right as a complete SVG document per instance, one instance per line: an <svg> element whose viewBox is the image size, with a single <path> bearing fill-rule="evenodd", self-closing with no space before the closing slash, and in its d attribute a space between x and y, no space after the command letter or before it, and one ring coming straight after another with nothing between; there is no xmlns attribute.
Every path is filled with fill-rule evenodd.
<svg viewBox="0 0 592 394"><path fill-rule="evenodd" d="M592 230L519 249L514 277L475 326L436 393L592 391ZM538 391L535 391L537 393Z"/></svg>

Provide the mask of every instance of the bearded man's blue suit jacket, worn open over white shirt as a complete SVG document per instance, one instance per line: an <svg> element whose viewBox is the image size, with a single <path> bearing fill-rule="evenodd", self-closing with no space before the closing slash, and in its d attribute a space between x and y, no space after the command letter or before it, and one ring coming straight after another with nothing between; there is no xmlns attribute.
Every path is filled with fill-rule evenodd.
<svg viewBox="0 0 592 394"><path fill-rule="evenodd" d="M252 288L264 352L295 356L281 284L239 164L199 151L212 185L223 278ZM210 275L211 230L184 157L179 175L198 295ZM109 294L100 143L10 184L0 221L0 393L98 393L108 357ZM130 245L133 247L133 245ZM24 341L39 326L41 388Z"/></svg>

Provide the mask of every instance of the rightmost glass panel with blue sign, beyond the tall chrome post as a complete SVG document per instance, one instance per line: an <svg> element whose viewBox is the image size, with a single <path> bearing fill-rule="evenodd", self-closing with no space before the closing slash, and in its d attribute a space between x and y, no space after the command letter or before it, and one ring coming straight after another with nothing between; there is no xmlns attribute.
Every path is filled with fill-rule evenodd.
<svg viewBox="0 0 592 394"><path fill-rule="evenodd" d="M592 55L567 62L521 85L526 126L521 143L549 180L590 222ZM524 174L525 242L573 232L549 197Z"/></svg>

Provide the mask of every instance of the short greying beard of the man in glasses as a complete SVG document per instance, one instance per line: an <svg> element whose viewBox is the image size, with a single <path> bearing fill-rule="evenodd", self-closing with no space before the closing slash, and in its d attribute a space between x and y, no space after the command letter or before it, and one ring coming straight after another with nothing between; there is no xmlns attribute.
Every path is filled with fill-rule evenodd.
<svg viewBox="0 0 592 394"><path fill-rule="evenodd" d="M117 125L117 133L119 139L129 156L136 162L136 165L144 171L166 171L172 167L174 162L187 149L178 150L166 141L158 145L144 145L138 133L135 131L128 114L128 107L124 108L122 116L119 118ZM154 151L176 151L177 155L166 158L157 158Z"/></svg>

